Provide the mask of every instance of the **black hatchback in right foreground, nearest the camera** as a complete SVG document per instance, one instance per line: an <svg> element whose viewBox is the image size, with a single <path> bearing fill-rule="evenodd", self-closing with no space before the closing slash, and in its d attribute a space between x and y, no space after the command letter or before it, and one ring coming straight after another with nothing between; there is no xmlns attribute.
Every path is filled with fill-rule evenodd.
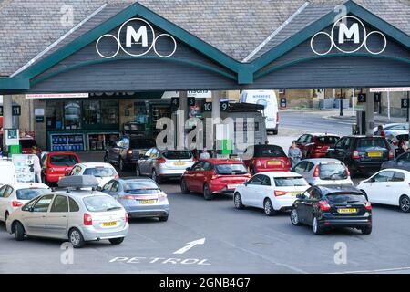
<svg viewBox="0 0 410 292"><path fill-rule="evenodd" d="M352 185L315 185L296 197L291 212L293 225L310 225L315 235L334 227L372 233L372 205Z"/></svg>

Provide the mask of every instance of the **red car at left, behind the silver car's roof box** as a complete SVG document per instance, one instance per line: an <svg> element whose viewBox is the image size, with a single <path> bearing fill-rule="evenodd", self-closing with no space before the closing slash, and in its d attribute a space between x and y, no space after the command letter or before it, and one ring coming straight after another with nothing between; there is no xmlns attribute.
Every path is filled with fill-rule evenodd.
<svg viewBox="0 0 410 292"><path fill-rule="evenodd" d="M80 162L75 152L48 152L42 159L41 177L43 183L58 183L59 179L71 172L73 166Z"/></svg>

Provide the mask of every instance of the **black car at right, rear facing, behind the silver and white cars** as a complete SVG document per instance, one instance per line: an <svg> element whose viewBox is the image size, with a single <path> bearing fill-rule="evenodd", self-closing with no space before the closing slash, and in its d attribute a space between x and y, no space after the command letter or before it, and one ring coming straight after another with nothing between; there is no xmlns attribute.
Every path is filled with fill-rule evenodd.
<svg viewBox="0 0 410 292"><path fill-rule="evenodd" d="M380 136L345 136L327 151L327 157L344 162L350 172L379 171L383 162L395 156L389 143Z"/></svg>

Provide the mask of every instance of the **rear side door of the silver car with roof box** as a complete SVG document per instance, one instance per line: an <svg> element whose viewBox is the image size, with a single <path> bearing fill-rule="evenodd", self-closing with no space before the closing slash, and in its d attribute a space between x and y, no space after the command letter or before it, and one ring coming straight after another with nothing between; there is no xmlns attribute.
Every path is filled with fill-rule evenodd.
<svg viewBox="0 0 410 292"><path fill-rule="evenodd" d="M68 227L68 198L57 194L46 216L47 235L55 238L66 238Z"/></svg>

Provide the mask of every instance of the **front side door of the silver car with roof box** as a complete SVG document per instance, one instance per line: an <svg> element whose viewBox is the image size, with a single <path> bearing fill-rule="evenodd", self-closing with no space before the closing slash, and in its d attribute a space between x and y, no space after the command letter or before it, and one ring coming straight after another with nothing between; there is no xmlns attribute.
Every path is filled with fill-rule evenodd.
<svg viewBox="0 0 410 292"><path fill-rule="evenodd" d="M53 201L54 194L46 194L40 197L36 203L25 212L22 221L25 224L27 235L47 236L46 215Z"/></svg>

